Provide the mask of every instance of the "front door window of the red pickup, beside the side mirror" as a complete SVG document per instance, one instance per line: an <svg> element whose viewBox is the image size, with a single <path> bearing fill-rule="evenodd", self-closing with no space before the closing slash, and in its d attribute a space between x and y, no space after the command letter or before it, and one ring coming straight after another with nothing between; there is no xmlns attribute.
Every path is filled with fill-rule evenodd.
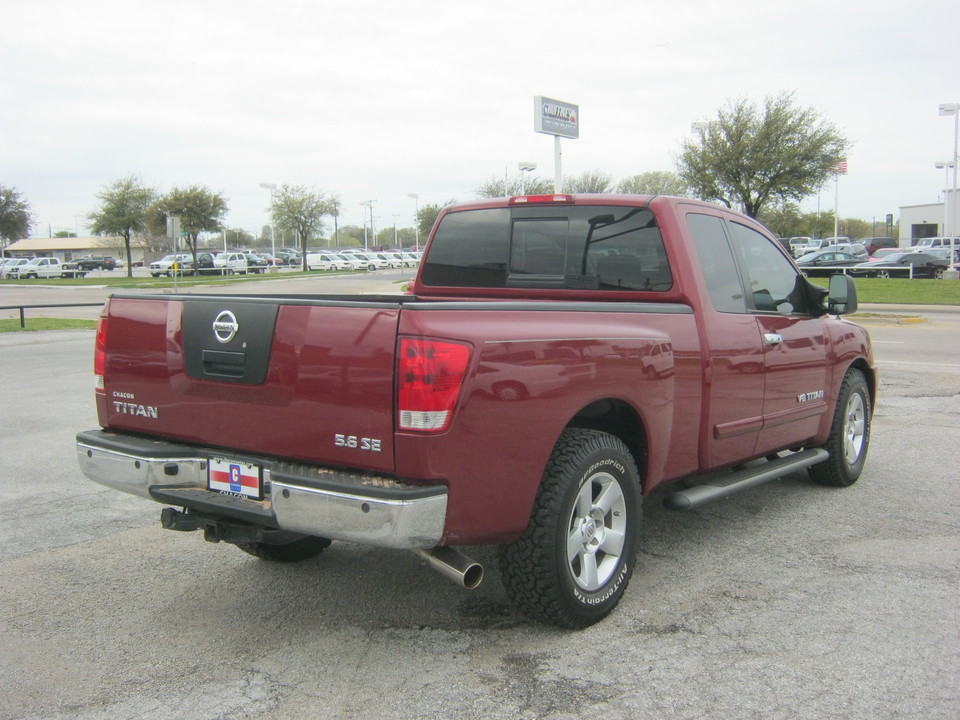
<svg viewBox="0 0 960 720"><path fill-rule="evenodd" d="M746 225L732 222L729 227L750 283L754 309L781 315L809 312L806 282L783 253Z"/></svg>

